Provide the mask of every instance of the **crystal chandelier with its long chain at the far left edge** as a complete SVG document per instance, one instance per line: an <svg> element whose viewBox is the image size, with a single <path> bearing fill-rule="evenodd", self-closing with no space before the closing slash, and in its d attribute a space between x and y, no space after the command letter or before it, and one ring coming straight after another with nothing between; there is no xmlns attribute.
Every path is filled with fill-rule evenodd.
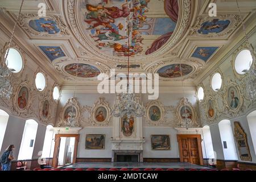
<svg viewBox="0 0 256 182"><path fill-rule="evenodd" d="M11 47L11 42L13 40L14 36L14 30L16 28L17 22L19 20L19 16L22 10L24 0L22 0L22 3L20 5L19 14L15 21L13 32L11 33L11 38L7 47L7 51L5 54L5 60L0 65L0 97L2 98L9 98L11 97L11 94L13 94L13 86L11 85L11 73L15 71L15 69L9 69L8 68L8 60L7 57L9 55L9 50Z"/></svg>

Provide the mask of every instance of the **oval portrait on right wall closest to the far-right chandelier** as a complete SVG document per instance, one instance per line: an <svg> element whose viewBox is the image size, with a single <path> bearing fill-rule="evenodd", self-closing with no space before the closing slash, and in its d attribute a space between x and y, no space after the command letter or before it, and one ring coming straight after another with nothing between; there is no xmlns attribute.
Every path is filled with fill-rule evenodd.
<svg viewBox="0 0 256 182"><path fill-rule="evenodd" d="M240 92L236 86L230 86L226 98L230 109L236 110L240 106Z"/></svg>

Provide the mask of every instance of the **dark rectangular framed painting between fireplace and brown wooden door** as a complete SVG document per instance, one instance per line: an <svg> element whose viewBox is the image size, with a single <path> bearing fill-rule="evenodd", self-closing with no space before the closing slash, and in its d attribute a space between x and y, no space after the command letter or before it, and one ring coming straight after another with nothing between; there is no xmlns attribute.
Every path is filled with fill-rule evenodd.
<svg viewBox="0 0 256 182"><path fill-rule="evenodd" d="M170 135L151 135L152 150L171 150Z"/></svg>

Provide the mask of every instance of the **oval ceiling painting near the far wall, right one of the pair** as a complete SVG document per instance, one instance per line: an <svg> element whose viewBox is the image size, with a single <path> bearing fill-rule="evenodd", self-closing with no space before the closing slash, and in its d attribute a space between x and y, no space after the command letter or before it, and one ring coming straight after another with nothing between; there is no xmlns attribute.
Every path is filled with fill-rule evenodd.
<svg viewBox="0 0 256 182"><path fill-rule="evenodd" d="M181 76L187 76L189 73L193 71L191 65L181 64L181 71L180 71L180 64L171 64L167 65L163 68L160 68L157 73L160 77L164 78L178 78Z"/></svg>

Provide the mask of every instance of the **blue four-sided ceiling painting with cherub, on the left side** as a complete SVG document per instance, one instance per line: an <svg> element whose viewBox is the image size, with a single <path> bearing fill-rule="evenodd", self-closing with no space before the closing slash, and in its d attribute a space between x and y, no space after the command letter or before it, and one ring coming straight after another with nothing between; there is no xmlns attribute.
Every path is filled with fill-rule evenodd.
<svg viewBox="0 0 256 182"><path fill-rule="evenodd" d="M39 48L46 54L46 56L51 61L59 57L65 56L63 50L59 46L39 46Z"/></svg>

